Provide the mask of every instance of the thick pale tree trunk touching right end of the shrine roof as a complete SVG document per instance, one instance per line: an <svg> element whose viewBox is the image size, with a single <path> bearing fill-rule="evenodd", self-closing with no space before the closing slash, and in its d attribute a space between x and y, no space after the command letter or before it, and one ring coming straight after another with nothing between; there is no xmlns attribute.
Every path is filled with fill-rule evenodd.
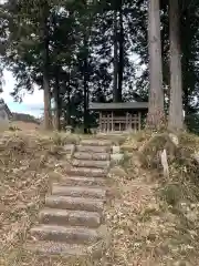
<svg viewBox="0 0 199 266"><path fill-rule="evenodd" d="M149 108L147 124L159 130L165 123L159 0L148 0Z"/></svg>

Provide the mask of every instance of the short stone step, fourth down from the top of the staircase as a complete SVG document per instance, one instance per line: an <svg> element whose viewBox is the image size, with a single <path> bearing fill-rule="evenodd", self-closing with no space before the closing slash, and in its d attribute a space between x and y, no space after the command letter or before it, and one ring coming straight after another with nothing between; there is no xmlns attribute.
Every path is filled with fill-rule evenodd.
<svg viewBox="0 0 199 266"><path fill-rule="evenodd" d="M73 160L73 166L76 167L94 167L94 168L108 168L108 161L85 161L85 160Z"/></svg>

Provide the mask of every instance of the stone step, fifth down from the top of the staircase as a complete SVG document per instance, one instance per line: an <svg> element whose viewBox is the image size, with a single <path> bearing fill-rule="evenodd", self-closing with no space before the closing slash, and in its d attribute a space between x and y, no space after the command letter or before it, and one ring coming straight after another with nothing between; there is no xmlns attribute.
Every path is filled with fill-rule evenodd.
<svg viewBox="0 0 199 266"><path fill-rule="evenodd" d="M66 173L69 175L78 175L78 176L85 176L85 177L106 177L107 176L107 170L103 168L88 168L88 167L74 167L66 168Z"/></svg>

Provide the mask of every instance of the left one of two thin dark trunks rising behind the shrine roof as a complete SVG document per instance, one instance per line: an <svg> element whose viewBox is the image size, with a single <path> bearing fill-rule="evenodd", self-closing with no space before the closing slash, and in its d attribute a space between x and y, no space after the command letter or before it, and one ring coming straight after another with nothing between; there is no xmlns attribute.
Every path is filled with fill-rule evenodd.
<svg viewBox="0 0 199 266"><path fill-rule="evenodd" d="M113 101L118 102L118 42L117 42L117 10L114 10L114 81Z"/></svg>

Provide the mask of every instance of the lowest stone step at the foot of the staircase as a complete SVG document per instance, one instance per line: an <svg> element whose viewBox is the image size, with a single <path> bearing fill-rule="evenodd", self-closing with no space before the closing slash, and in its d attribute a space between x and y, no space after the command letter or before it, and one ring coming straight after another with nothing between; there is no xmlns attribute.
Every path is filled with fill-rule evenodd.
<svg viewBox="0 0 199 266"><path fill-rule="evenodd" d="M27 242L25 249L42 256L61 255L62 257L85 256L88 254L87 245L66 244L63 242Z"/></svg>

